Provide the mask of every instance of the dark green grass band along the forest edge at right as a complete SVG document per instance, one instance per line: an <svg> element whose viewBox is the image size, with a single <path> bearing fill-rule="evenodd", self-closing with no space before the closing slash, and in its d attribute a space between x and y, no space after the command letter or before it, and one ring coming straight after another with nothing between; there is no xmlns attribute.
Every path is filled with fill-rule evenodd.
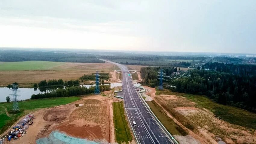
<svg viewBox="0 0 256 144"><path fill-rule="evenodd" d="M176 95L189 99L196 103L197 107L210 110L219 119L223 119L234 125L240 125L247 128L256 129L256 114L242 110L236 107L218 104L211 99L201 95L191 95L185 93L177 93L169 90L156 91L156 95Z"/></svg>

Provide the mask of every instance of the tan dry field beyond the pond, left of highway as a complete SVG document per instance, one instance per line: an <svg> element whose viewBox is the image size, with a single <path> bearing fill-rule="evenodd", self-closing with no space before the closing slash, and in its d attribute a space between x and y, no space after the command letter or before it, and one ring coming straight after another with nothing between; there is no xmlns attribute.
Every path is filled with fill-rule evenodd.
<svg viewBox="0 0 256 144"><path fill-rule="evenodd" d="M26 63L27 61L24 61ZM48 61L43 61L43 63ZM20 63L20 62L14 62ZM38 61L40 63L40 61ZM79 79L84 74L99 72L109 72L115 69L115 66L110 63L66 63L66 62L49 62L57 63L59 65L55 67L48 67L45 70L30 70L23 68L24 70L12 70L12 71L0 71L0 86L7 86L13 82L18 82L20 87L32 87L33 83L38 83L41 80L49 79ZM40 64L39 64L40 65ZM42 67L41 67L42 68Z"/></svg>

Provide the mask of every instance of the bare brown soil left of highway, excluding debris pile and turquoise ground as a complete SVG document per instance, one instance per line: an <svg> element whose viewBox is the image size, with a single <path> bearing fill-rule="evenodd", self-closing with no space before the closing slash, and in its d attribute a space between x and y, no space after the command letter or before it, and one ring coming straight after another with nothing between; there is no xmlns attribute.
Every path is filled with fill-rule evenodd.
<svg viewBox="0 0 256 144"><path fill-rule="evenodd" d="M107 95L112 91L105 92ZM101 95L85 96L71 104L36 111L33 125L27 134L7 143L34 144L55 130L67 135L99 143L115 143L112 102L116 98ZM76 107L76 104L80 106Z"/></svg>

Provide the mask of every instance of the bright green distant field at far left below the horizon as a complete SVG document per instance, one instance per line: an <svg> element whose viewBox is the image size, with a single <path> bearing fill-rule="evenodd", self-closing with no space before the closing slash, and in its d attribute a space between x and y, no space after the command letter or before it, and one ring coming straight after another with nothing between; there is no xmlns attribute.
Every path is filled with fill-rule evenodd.
<svg viewBox="0 0 256 144"><path fill-rule="evenodd" d="M46 70L64 64L64 62L52 61L0 62L0 70Z"/></svg>

